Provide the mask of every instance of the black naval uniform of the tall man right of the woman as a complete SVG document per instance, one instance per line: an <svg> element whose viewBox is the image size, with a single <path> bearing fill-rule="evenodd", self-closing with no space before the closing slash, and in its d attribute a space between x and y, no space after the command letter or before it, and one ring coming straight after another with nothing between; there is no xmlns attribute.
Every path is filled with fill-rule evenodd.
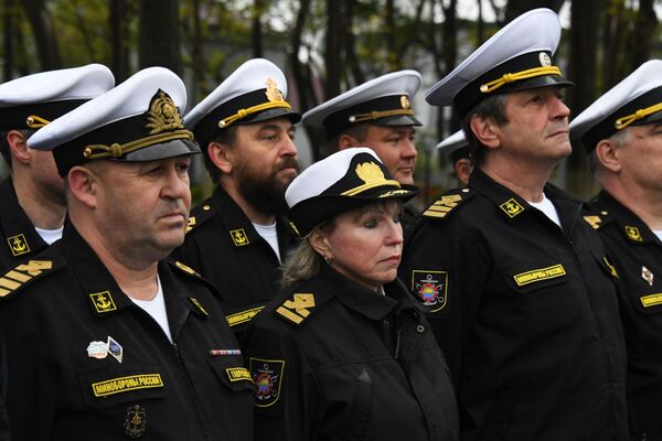
<svg viewBox="0 0 662 441"><path fill-rule="evenodd" d="M616 271L581 203L547 185L563 230L476 170L424 213L401 277L429 309L462 440L624 440Z"/></svg>

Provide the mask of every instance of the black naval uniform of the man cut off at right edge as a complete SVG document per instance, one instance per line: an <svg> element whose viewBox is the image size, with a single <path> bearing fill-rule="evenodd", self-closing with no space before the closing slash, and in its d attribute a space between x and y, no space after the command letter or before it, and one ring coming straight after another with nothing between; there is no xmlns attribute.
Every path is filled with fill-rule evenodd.
<svg viewBox="0 0 662 441"><path fill-rule="evenodd" d="M628 347L628 412L632 440L662 440L662 243L605 191L590 216L618 268Z"/></svg>

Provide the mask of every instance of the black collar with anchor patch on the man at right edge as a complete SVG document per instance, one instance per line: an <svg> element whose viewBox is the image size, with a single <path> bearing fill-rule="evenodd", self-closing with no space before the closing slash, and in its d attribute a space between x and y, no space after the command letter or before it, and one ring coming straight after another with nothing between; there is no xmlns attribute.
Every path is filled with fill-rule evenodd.
<svg viewBox="0 0 662 441"><path fill-rule="evenodd" d="M658 243L658 236L645 225L639 216L618 202L605 190L591 200L591 205L600 217L600 226L615 223L619 234L632 244Z"/></svg>

